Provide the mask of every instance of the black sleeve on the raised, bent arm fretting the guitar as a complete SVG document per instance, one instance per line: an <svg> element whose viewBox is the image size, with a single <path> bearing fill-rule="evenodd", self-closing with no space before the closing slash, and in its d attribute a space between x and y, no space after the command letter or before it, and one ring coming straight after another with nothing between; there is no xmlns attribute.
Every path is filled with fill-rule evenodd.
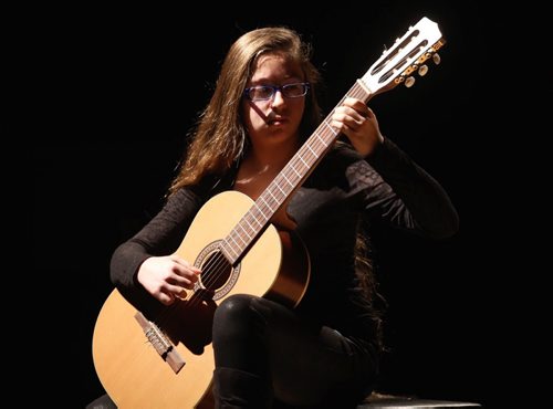
<svg viewBox="0 0 553 409"><path fill-rule="evenodd" d="M459 217L449 196L392 140L385 138L363 162L368 166L358 162L355 167L365 169L349 172L357 175L357 182L366 185L364 206L368 214L434 239L457 232Z"/></svg>

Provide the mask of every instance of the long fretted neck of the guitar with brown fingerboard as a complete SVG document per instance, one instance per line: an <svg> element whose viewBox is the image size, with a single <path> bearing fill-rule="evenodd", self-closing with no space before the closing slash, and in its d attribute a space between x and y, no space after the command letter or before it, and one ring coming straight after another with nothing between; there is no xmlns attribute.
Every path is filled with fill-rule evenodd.
<svg viewBox="0 0 553 409"><path fill-rule="evenodd" d="M357 81L340 101L346 97L367 102L373 94ZM336 108L335 107L335 108ZM334 109L335 109L334 108ZM331 149L340 133L331 126L334 109L319 125L305 144L289 160L268 188L259 196L250 210L227 235L221 251L231 264L236 264L269 224L274 213L310 176L323 156Z"/></svg>

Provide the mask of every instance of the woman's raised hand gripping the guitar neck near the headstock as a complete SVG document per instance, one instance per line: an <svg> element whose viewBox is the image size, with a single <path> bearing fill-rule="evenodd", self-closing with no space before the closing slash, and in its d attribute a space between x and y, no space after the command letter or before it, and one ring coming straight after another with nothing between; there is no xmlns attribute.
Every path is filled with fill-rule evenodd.
<svg viewBox="0 0 553 409"><path fill-rule="evenodd" d="M384 141L375 114L361 99L347 97L343 105L334 109L331 125L347 136L364 157Z"/></svg>

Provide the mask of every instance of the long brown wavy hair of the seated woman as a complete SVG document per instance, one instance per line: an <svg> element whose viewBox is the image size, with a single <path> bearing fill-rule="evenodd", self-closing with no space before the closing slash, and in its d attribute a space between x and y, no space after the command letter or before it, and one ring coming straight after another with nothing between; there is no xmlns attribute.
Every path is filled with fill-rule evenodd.
<svg viewBox="0 0 553 409"><path fill-rule="evenodd" d="M179 174L169 188L174 193L184 186L197 183L209 174L221 175L244 155L248 135L240 114L243 90L260 55L279 52L300 63L311 84L301 124L304 138L322 120L316 98L320 74L311 63L311 46L288 28L263 28L240 36L230 48L211 99L199 117L196 132Z"/></svg>

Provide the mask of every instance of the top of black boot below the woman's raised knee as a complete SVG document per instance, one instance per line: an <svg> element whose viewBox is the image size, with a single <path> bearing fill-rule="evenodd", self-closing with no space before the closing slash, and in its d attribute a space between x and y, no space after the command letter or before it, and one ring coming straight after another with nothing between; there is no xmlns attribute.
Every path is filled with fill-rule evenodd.
<svg viewBox="0 0 553 409"><path fill-rule="evenodd" d="M272 389L267 379L232 368L213 371L213 397L216 409L263 409L272 406Z"/></svg>

